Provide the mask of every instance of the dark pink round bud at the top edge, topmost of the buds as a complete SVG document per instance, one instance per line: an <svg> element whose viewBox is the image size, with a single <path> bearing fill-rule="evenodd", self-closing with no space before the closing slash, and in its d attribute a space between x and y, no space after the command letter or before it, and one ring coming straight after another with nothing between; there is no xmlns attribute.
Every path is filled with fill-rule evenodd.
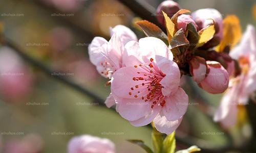
<svg viewBox="0 0 256 153"><path fill-rule="evenodd" d="M162 11L170 18L180 10L178 3L174 1L164 1L157 7L157 20L164 25L164 17Z"/></svg>

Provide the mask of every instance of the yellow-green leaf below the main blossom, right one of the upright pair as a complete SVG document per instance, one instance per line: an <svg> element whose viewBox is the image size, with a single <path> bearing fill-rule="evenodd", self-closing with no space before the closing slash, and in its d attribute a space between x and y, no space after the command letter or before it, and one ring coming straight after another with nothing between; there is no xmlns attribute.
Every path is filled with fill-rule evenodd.
<svg viewBox="0 0 256 153"><path fill-rule="evenodd" d="M163 140L163 152L173 153L176 148L175 132L166 136Z"/></svg>

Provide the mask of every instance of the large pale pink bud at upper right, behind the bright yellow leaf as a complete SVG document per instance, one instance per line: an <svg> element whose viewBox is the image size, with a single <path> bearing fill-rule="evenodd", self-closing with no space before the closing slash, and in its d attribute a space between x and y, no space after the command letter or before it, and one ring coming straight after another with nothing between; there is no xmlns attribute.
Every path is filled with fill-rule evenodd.
<svg viewBox="0 0 256 153"><path fill-rule="evenodd" d="M213 19L215 22L215 35L208 41L204 46L207 48L214 47L218 45L223 37L223 24L222 15L216 9L199 9L191 13L192 18L196 21L199 30L212 24Z"/></svg>

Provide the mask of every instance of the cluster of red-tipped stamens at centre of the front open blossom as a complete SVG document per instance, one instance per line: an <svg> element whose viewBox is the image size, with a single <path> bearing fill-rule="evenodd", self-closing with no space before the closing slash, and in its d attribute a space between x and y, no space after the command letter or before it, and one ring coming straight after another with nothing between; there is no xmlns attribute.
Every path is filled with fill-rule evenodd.
<svg viewBox="0 0 256 153"><path fill-rule="evenodd" d="M150 61L148 65L134 65L135 68L140 67L140 70L143 71L138 70L137 73L139 76L132 78L133 81L139 82L139 84L131 87L129 95L152 103L151 108L153 109L155 105L164 106L165 104L165 100L163 100L164 95L162 94L163 86L160 84L165 74L153 62L154 59L151 58Z"/></svg>

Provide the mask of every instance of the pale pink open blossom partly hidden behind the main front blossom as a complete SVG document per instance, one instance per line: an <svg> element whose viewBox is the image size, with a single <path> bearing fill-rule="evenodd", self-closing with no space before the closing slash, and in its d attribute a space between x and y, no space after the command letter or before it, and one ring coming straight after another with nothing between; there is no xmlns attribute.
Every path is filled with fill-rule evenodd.
<svg viewBox="0 0 256 153"><path fill-rule="evenodd" d="M102 37L95 37L89 45L90 61L103 77L109 79L116 70L123 66L124 45L131 40L137 41L133 31L124 25L116 25L116 27L110 29L110 33L111 39L109 42ZM105 104L107 107L115 104L112 94L106 98Z"/></svg>

